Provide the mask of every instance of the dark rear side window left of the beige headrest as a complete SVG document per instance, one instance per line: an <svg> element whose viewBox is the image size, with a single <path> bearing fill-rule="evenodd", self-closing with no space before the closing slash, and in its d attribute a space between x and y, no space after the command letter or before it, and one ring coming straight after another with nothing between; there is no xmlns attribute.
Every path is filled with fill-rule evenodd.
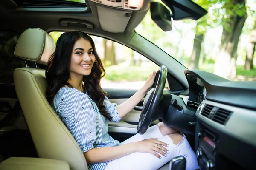
<svg viewBox="0 0 256 170"><path fill-rule="evenodd" d="M0 83L12 84L15 68L25 66L24 60L14 55L19 37L12 31L0 31Z"/></svg>

